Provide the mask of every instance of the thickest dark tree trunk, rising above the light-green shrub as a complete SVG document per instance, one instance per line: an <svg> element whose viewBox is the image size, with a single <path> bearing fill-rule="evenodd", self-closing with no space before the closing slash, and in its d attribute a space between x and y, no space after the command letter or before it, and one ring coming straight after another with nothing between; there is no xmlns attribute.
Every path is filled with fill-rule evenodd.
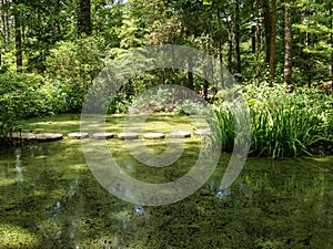
<svg viewBox="0 0 333 249"><path fill-rule="evenodd" d="M78 11L78 34L90 35L92 33L91 24L91 2L90 0L77 0Z"/></svg>

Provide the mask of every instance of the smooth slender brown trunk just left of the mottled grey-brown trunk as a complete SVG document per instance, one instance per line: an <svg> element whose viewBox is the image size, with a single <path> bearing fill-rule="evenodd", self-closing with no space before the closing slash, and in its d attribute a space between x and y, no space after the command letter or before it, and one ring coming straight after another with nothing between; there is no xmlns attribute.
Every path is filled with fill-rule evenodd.
<svg viewBox="0 0 333 249"><path fill-rule="evenodd" d="M271 83L275 79L275 53L276 53L276 0L272 0L271 12L271 53L270 53L270 80Z"/></svg>

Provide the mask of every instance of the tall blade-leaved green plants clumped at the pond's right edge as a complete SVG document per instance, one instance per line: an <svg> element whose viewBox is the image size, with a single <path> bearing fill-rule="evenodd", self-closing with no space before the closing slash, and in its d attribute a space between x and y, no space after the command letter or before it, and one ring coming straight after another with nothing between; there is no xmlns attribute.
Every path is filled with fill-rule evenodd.
<svg viewBox="0 0 333 249"><path fill-rule="evenodd" d="M248 85L244 95L252 123L251 155L273 158L332 154L333 98L319 90L285 85ZM222 133L222 149L233 147L233 118L225 103L216 114Z"/></svg>

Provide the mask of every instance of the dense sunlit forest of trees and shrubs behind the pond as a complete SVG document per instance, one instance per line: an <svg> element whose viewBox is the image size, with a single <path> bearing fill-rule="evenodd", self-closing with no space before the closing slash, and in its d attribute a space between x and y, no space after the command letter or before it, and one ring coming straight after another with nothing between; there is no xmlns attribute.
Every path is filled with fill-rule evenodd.
<svg viewBox="0 0 333 249"><path fill-rule="evenodd" d="M321 118L327 133L333 125L326 121L333 93L332 9L330 0L1 0L0 133L14 131L20 118L80 111L94 76L110 61L165 43L215 56L240 83L258 87L252 92L272 87L262 101L315 90L297 96L299 106L315 103L314 112L326 115ZM118 93L110 112L125 112L133 97L168 83L205 98L214 89L192 73L148 72Z"/></svg>

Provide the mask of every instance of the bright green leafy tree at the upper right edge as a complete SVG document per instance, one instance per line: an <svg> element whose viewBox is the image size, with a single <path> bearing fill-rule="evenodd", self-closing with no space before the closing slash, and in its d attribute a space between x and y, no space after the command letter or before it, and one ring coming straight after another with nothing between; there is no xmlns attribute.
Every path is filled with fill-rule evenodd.
<svg viewBox="0 0 333 249"><path fill-rule="evenodd" d="M299 31L301 50L301 70L306 75L307 86L331 80L331 33L332 13L330 13L330 1L297 1L300 17L297 23L293 24ZM304 77L303 77L304 79Z"/></svg>

